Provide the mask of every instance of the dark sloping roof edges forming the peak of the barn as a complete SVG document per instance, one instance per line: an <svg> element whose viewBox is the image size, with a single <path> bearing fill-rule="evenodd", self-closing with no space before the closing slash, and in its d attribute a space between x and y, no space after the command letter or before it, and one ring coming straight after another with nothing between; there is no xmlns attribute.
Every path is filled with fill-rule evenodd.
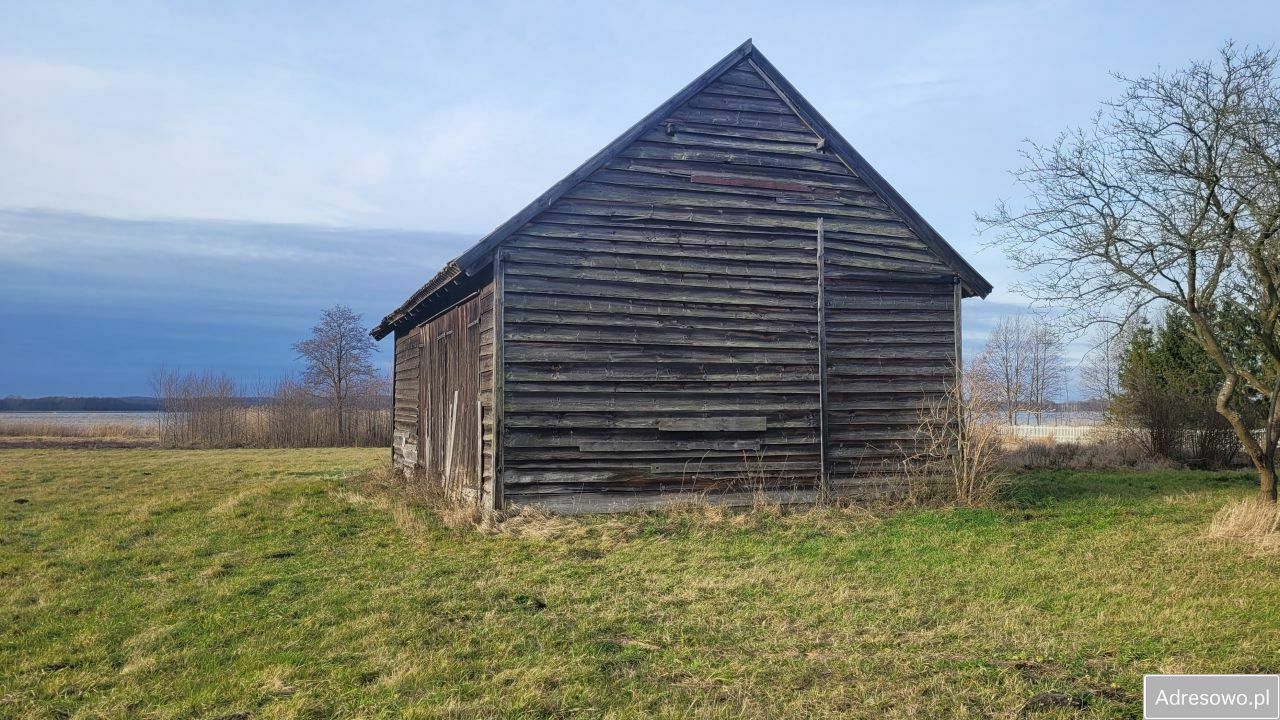
<svg viewBox="0 0 1280 720"><path fill-rule="evenodd" d="M692 96L705 90L719 76L740 63L749 63L773 90L778 94L800 119L808 124L814 133L822 138L826 147L849 167L850 172L859 176L873 191L897 214L901 220L924 242L938 259L941 259L959 277L965 293L986 297L992 286L973 269L959 252L942 238L941 234L919 213L911 208L893 186L888 183L869 163L849 143L836 129L809 104L808 100L773 67L750 40L737 46L732 53L712 65L707 72L698 76L680 92L672 95L666 102L645 115L640 122L631 126L625 133L605 145L599 152L582 163L577 169L553 184L547 192L530 202L525 209L516 213L506 223L498 225L493 232L483 237L470 250L451 260L434 278L408 297L399 307L393 310L383 322L375 327L370 334L381 340L396 329L402 322L422 307L431 297L442 295L447 288L461 284L465 278L484 270L493 259L493 252L508 237L516 233L526 223L534 220L539 214L550 208L557 200L563 197L575 186L589 176L614 160L620 152L635 142L640 136L664 120L672 111L689 101Z"/></svg>

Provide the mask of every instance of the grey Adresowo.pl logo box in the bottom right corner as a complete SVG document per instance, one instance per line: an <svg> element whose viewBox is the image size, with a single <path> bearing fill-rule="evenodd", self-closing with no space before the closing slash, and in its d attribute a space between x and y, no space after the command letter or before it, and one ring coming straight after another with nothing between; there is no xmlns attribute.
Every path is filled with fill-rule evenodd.
<svg viewBox="0 0 1280 720"><path fill-rule="evenodd" d="M1280 720L1280 675L1143 675L1146 720Z"/></svg>

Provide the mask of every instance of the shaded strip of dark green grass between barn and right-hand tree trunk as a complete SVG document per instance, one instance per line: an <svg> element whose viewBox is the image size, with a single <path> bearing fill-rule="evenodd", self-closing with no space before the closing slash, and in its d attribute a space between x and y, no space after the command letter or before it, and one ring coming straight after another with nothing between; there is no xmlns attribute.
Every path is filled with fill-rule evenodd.
<svg viewBox="0 0 1280 720"><path fill-rule="evenodd" d="M1169 495L1251 489L1252 470L1032 470L1015 475L1001 498L1020 507L1149 502Z"/></svg>

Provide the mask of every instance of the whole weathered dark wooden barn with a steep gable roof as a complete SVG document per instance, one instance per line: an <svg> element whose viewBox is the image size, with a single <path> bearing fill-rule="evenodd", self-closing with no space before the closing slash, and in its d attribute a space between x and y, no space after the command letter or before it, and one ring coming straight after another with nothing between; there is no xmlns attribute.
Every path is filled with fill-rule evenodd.
<svg viewBox="0 0 1280 720"><path fill-rule="evenodd" d="M392 454L485 509L881 493L988 292L748 41L372 331Z"/></svg>

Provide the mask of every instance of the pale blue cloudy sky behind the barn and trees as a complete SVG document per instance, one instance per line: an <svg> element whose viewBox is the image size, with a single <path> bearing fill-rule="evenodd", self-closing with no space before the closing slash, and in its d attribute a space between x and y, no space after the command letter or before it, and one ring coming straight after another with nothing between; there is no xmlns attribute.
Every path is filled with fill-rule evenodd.
<svg viewBox="0 0 1280 720"><path fill-rule="evenodd" d="M3 5L0 395L28 397L296 370L321 309L375 324L748 37L996 286L972 354L1025 306L973 219L1016 200L1020 143L1111 73L1280 27L1274 1Z"/></svg>

